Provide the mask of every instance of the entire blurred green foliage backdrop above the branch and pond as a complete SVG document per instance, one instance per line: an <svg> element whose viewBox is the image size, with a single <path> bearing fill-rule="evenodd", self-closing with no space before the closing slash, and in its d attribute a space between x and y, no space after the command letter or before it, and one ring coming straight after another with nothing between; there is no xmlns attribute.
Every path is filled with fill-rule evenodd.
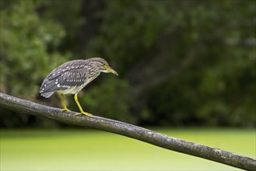
<svg viewBox="0 0 256 171"><path fill-rule="evenodd" d="M47 74L64 61L100 56L120 76L100 75L79 93L90 113L132 124L255 127L255 6L1 0L0 90L60 106L58 96L38 94ZM72 96L68 102L77 110ZM13 125L5 113L0 124Z"/></svg>

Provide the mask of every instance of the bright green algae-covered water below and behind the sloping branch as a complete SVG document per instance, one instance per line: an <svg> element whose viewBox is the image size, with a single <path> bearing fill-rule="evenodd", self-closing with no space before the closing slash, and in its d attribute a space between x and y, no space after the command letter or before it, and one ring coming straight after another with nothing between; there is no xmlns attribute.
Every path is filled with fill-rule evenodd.
<svg viewBox="0 0 256 171"><path fill-rule="evenodd" d="M150 129L255 159L254 129ZM0 145L1 170L239 170L89 129L1 130Z"/></svg>

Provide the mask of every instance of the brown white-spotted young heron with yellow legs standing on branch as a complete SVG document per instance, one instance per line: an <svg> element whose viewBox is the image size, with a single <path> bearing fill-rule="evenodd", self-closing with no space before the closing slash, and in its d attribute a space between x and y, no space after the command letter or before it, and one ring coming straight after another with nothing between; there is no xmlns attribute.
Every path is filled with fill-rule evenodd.
<svg viewBox="0 0 256 171"><path fill-rule="evenodd" d="M114 69L110 68L103 58L89 58L86 60L68 61L58 68L55 68L42 83L40 94L46 98L50 97L54 92L61 93L63 110L68 110L65 104L65 94L75 94L74 99L81 113L92 117L90 113L82 110L77 94L93 79L100 75L100 72L111 72L118 75Z"/></svg>

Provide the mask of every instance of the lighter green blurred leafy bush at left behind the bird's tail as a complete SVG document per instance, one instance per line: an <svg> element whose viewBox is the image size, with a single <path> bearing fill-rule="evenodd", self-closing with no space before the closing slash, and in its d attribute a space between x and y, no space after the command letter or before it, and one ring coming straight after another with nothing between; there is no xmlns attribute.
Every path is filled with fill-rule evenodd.
<svg viewBox="0 0 256 171"><path fill-rule="evenodd" d="M1 1L1 89L34 99L37 83L49 64L60 61L54 49L65 36L63 27L40 19L35 1ZM61 60L64 61L64 60ZM43 75L42 75L43 74Z"/></svg>

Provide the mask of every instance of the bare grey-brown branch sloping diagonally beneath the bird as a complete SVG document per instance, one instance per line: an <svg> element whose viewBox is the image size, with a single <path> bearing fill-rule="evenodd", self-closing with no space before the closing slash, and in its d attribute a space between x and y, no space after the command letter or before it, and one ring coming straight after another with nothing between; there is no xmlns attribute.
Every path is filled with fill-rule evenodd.
<svg viewBox="0 0 256 171"><path fill-rule="evenodd" d="M229 166L246 170L256 169L256 160L232 152L226 152L219 148L212 148L199 145L191 141L184 141L172 138L165 134L126 124L117 120L110 120L103 117L75 116L75 112L62 112L61 109L40 105L28 100L19 99L0 92L0 106L20 113L30 114L36 117L44 117L51 120L58 120L66 124L75 124L82 127L121 134L129 138L145 141L149 144L167 148L175 152L182 152L188 155L195 155L203 159L209 159Z"/></svg>

